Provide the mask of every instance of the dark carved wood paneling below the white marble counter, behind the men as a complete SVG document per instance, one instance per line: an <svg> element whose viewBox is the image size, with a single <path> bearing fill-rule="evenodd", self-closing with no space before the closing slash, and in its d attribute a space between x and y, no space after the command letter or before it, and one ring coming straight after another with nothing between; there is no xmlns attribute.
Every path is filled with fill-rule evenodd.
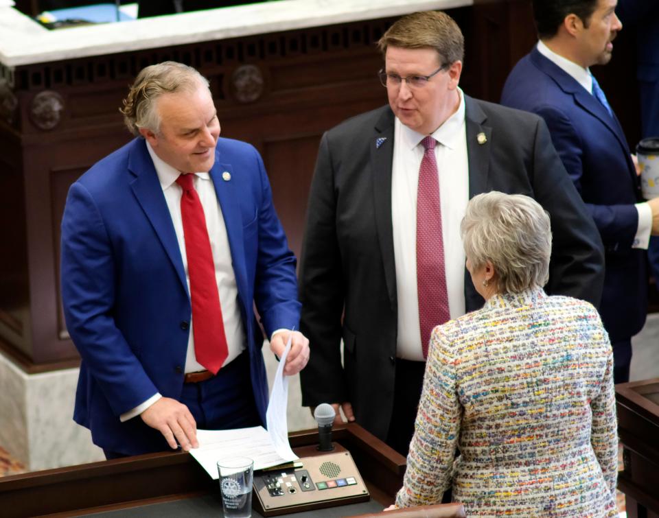
<svg viewBox="0 0 659 518"><path fill-rule="evenodd" d="M449 12L467 42L463 89L498 101L509 69L535 38L532 22L524 19L529 16L528 0L482 5L477 1L473 8ZM71 182L130 139L118 108L140 69L171 59L190 64L209 78L222 134L253 143L262 153L275 207L290 246L299 254L321 135L348 117L386 103L386 92L375 76L382 67L375 42L392 21L314 27L12 70L0 65L5 85L0 88L0 106L17 104L15 111L0 110L0 229L12 250L0 259L0 279L3 287L8 286L0 294L0 346L14 349L28 370L76 362L59 295L62 209ZM247 75L255 74L261 93L241 102L245 91L233 78L246 65L254 67ZM37 103L45 106L41 119L32 113ZM43 120L57 123L43 129Z"/></svg>

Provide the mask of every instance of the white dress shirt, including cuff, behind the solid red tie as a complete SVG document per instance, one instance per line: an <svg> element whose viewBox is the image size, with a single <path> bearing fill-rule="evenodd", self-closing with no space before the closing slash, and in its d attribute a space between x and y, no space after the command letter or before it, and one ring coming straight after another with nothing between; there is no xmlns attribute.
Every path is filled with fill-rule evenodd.
<svg viewBox="0 0 659 518"><path fill-rule="evenodd" d="M185 252L185 236L183 235L183 220L181 219L181 196L183 189L176 183L176 178L181 174L171 165L163 162L153 151L149 143L146 147L153 161L153 165L158 174L158 180L163 188L167 209L172 216L172 224L176 231L178 249L183 259L183 268L185 269L185 279L187 289L190 289L190 277L187 271L187 255ZM208 237L211 242L211 251L213 253L213 262L215 263L215 278L218 283L220 293L220 305L222 307L222 320L224 321L224 334L227 336L227 345L229 346L229 355L224 364L227 365L231 360L240 355L246 348L246 337L242 326L240 316L240 307L238 305L238 286L235 283L233 266L231 264L231 249L229 248L229 237L227 236L227 227L224 225L222 210L213 187L213 180L209 173L194 173L194 188L197 191L204 216L206 218L206 228ZM185 373L194 373L198 370L206 370L199 364L194 354L194 321L190 321L189 337L187 340L187 355L185 357ZM147 401L144 401L136 408L122 414L121 420L127 421L135 417L153 403L161 398L160 394L155 394Z"/></svg>

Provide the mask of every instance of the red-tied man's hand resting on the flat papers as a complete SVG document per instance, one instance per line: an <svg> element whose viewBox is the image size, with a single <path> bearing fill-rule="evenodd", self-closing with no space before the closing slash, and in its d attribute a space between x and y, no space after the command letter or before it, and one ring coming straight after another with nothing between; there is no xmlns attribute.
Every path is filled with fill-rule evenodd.
<svg viewBox="0 0 659 518"><path fill-rule="evenodd" d="M161 397L141 414L142 421L157 429L167 444L176 449L176 441L183 451L198 448L197 423L183 403L170 397Z"/></svg>

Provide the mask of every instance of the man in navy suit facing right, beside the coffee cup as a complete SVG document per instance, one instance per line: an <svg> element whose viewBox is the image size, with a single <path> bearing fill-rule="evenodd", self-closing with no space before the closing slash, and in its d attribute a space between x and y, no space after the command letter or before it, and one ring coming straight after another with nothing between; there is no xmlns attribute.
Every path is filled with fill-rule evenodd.
<svg viewBox="0 0 659 518"><path fill-rule="evenodd" d="M659 199L641 202L618 119L590 73L611 59L622 28L616 0L540 0L540 41L511 71L502 104L541 115L605 248L600 312L614 349L616 383L628 381L632 335L647 312L647 250L659 233Z"/></svg>

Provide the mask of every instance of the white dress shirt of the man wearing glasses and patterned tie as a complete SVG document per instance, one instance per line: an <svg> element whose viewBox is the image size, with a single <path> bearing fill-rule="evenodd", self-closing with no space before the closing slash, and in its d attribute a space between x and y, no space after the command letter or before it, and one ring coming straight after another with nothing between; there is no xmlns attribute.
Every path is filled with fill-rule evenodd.
<svg viewBox="0 0 659 518"><path fill-rule="evenodd" d="M469 164L465 98L459 108L435 132L435 158L439 174L439 203L444 247L446 287L451 318L465 314L465 252L460 222L469 201ZM419 327L417 293L417 189L424 157L420 134L395 119L391 171L391 217L398 300L397 357L424 360Z"/></svg>

